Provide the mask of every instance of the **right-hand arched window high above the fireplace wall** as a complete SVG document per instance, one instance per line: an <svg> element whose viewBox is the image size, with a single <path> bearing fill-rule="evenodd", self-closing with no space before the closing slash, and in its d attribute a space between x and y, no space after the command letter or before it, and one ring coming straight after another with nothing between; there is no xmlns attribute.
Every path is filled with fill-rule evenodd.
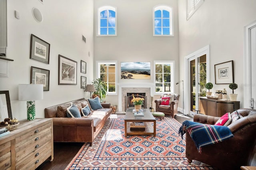
<svg viewBox="0 0 256 170"><path fill-rule="evenodd" d="M153 8L153 36L174 36L172 7L160 5Z"/></svg>

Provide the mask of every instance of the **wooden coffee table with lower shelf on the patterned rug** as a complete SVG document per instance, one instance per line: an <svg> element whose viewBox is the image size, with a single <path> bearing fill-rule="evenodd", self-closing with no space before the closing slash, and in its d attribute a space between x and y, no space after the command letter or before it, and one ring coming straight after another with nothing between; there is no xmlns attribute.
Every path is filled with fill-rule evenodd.
<svg viewBox="0 0 256 170"><path fill-rule="evenodd" d="M149 109L143 109L144 116L134 116L132 109L127 109L124 117L124 136L127 135L154 135L156 136L156 119L152 115ZM145 131L131 131L130 122L144 122ZM154 125L151 125L151 122Z"/></svg>

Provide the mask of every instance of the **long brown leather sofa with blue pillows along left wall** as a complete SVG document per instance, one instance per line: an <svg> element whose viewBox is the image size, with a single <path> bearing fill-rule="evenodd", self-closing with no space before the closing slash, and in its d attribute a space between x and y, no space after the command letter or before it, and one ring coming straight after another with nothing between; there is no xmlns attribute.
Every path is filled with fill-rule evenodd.
<svg viewBox="0 0 256 170"><path fill-rule="evenodd" d="M84 98L71 102L76 104L79 110L88 104ZM45 117L53 118L54 142L86 142L92 146L93 140L112 113L110 103L101 103L101 105L102 109L94 110L82 118L64 117L65 108L70 106L70 102L45 108Z"/></svg>

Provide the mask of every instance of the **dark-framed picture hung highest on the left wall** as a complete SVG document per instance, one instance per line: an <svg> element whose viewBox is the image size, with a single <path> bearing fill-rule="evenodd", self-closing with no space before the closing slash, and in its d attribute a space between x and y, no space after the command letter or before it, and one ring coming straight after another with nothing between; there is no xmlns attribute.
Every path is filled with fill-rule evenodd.
<svg viewBox="0 0 256 170"><path fill-rule="evenodd" d="M50 44L31 34L30 59L49 64Z"/></svg>

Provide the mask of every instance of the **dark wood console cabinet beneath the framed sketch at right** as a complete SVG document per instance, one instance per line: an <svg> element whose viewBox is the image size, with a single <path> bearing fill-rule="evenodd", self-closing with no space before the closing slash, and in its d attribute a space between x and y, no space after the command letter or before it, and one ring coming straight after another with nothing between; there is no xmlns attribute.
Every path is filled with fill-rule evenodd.
<svg viewBox="0 0 256 170"><path fill-rule="evenodd" d="M232 113L240 108L240 101L222 101L199 97L200 113L205 115L221 117L227 112Z"/></svg>

